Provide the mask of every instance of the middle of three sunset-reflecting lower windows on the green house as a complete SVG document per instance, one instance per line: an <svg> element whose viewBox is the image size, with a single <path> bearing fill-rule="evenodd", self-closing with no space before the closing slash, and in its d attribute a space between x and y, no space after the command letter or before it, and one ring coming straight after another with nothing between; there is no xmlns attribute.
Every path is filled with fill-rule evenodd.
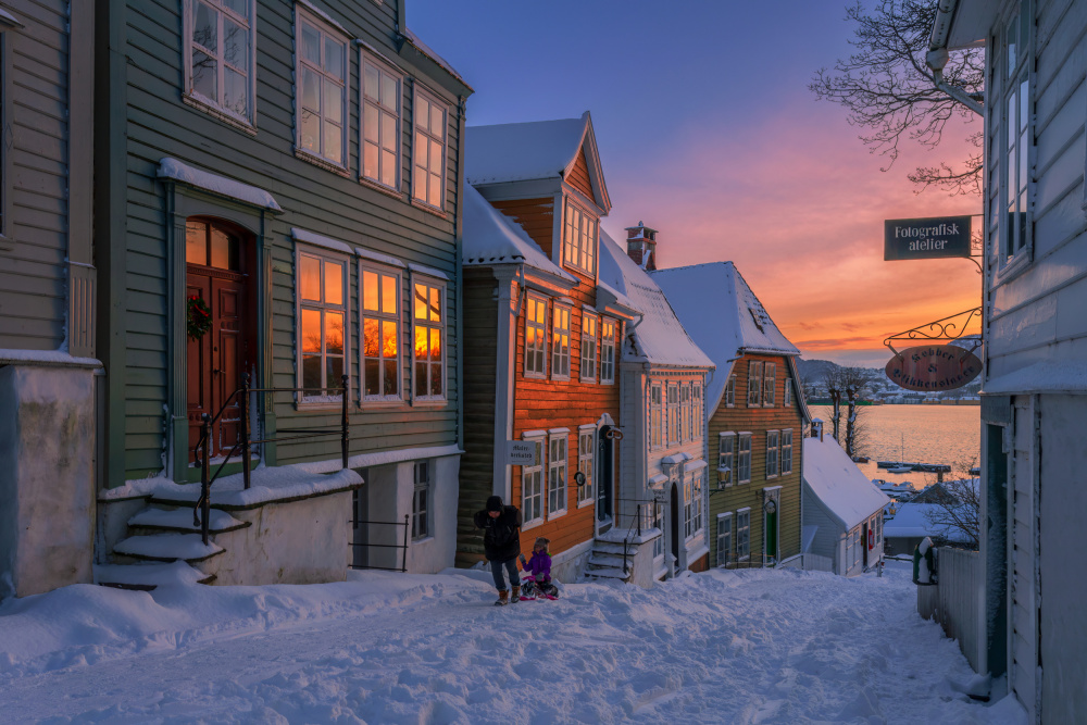
<svg viewBox="0 0 1087 725"><path fill-rule="evenodd" d="M400 400L400 273L359 265L362 398Z"/></svg>

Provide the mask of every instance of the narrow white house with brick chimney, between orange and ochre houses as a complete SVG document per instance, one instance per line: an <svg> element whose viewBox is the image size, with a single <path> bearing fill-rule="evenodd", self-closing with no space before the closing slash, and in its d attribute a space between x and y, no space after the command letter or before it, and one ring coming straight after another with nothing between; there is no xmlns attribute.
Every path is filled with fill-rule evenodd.
<svg viewBox="0 0 1087 725"><path fill-rule="evenodd" d="M712 472L703 393L714 365L648 274L655 266L657 230L639 223L627 237L627 248L604 233L600 242L600 293L638 311L620 355L620 425L626 442L620 525L599 537L587 573L649 586L708 563ZM645 254L648 245L652 251Z"/></svg>

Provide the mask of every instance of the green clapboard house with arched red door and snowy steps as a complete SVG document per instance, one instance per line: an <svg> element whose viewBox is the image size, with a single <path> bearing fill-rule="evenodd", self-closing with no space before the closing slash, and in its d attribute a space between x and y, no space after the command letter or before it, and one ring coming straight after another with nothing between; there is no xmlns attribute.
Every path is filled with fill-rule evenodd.
<svg viewBox="0 0 1087 725"><path fill-rule="evenodd" d="M404 0L98 4L100 554L149 493L199 480L205 450L268 484L285 464L339 471L346 415L365 486L307 489L333 502L291 534L304 550L335 530L323 563L227 580L451 565L471 88L408 29ZM229 459L247 418L252 457ZM307 496L264 515L304 520ZM208 573L221 552L205 553Z"/></svg>

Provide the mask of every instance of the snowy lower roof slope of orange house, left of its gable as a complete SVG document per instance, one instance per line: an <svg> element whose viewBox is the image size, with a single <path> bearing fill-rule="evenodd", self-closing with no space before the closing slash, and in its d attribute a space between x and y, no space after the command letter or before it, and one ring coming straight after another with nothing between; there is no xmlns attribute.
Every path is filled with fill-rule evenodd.
<svg viewBox="0 0 1087 725"><path fill-rule="evenodd" d="M544 250L525 234L521 225L498 211L475 190L464 185L465 266L490 264L526 264L570 282L576 278L548 259Z"/></svg>

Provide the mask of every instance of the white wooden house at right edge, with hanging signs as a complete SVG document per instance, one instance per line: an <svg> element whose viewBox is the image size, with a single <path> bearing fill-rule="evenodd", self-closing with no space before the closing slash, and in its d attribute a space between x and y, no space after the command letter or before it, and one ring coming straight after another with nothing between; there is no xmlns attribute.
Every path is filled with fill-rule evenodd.
<svg viewBox="0 0 1087 725"><path fill-rule="evenodd" d="M1087 711L1087 5L940 4L930 57L984 46L982 537L987 643L1030 722ZM947 582L945 578L942 582ZM941 587L944 583L941 582ZM950 584L949 584L950 586ZM963 587L973 584L963 583Z"/></svg>

